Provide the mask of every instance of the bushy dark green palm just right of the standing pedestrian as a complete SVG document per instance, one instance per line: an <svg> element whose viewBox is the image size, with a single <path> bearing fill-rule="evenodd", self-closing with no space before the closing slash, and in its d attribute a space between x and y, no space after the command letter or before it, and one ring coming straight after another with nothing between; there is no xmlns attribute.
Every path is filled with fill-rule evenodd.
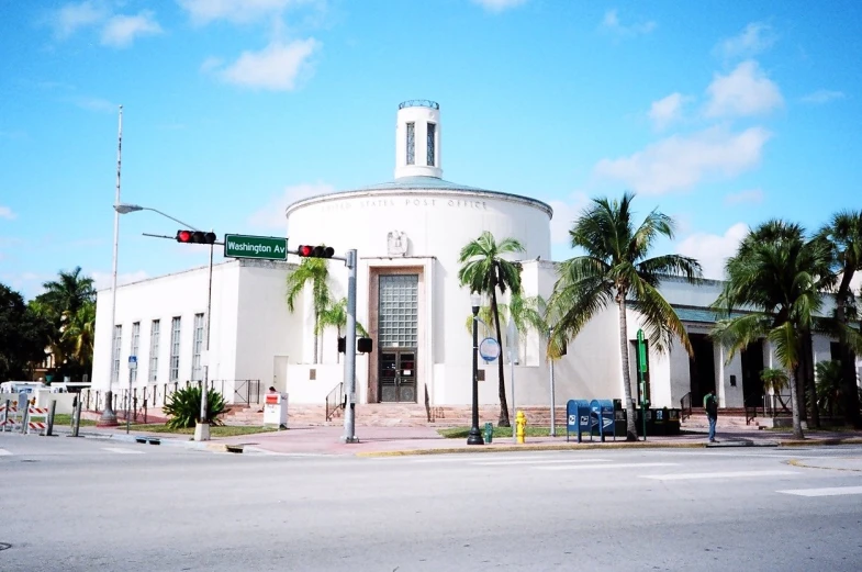
<svg viewBox="0 0 862 572"><path fill-rule="evenodd" d="M787 371L793 433L802 439L802 408L797 385L804 337L810 336L822 305L820 288L828 276L829 253L821 240L807 240L805 231L784 221L768 221L750 231L725 266L728 281L714 307L730 312L747 306L752 313L720 319L713 337L736 351L763 337L772 344ZM814 397L816 401L816 396ZM817 412L815 403L815 412Z"/></svg>

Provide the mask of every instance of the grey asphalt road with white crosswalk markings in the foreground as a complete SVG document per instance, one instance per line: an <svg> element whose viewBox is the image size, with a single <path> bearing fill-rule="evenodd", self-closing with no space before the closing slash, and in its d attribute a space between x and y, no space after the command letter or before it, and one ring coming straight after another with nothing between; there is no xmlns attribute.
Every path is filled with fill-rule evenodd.
<svg viewBox="0 0 862 572"><path fill-rule="evenodd" d="M363 459L0 434L0 570L858 572L860 459L860 447Z"/></svg>

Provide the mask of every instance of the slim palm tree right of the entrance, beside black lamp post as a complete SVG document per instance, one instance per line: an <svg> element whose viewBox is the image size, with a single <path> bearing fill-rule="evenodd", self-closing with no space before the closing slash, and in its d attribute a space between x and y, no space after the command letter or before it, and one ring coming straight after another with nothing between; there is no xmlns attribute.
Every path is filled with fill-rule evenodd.
<svg viewBox="0 0 862 572"><path fill-rule="evenodd" d="M524 246L514 238L504 238L496 243L494 235L484 231L479 238L470 240L461 248L458 262L458 281L461 285L469 285L470 292L491 296L491 312L494 316L496 340L503 347L503 336L500 329L500 309L497 307L496 291L501 294L506 290L520 292L520 269L514 262L505 260L503 255L523 253ZM500 419L501 427L511 427L508 419L508 405L506 404L506 384L503 379L503 360L497 360L500 373Z"/></svg>

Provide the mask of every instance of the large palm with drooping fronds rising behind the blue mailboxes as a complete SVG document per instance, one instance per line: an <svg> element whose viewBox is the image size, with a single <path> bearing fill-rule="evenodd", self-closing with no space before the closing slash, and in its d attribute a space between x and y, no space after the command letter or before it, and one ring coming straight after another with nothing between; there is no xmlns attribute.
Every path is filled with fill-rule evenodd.
<svg viewBox="0 0 862 572"><path fill-rule="evenodd" d="M664 277L682 277L697 283L701 265L693 258L662 255L647 258L656 240L673 238L673 220L656 210L635 227L631 201L634 193L626 192L619 201L593 199L569 231L572 248L586 254L562 262L559 278L548 301L549 323L553 333L548 344L548 355L560 354L564 343L578 336L581 329L600 311L612 302L619 318L619 355L623 368L623 388L628 420L626 440L637 440L635 403L631 400L631 375L628 359L628 325L626 307L641 317L652 348L658 352L670 349L673 337L693 355L685 327L676 312L658 290Z"/></svg>

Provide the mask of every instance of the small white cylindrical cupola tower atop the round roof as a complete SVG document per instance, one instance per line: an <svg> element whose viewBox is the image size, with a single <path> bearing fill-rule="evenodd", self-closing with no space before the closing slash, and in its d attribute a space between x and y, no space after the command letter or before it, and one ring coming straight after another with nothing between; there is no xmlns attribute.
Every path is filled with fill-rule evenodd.
<svg viewBox="0 0 862 572"><path fill-rule="evenodd" d="M440 168L440 105L411 100L399 104L395 127L395 178L443 177Z"/></svg>

